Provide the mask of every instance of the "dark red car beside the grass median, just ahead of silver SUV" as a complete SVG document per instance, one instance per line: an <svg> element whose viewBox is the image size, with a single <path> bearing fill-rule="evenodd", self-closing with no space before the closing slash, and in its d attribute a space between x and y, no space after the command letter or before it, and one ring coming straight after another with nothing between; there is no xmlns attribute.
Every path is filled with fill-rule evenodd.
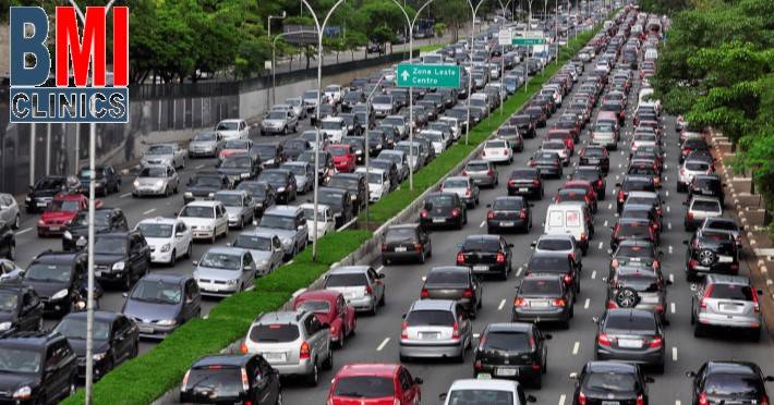
<svg viewBox="0 0 774 405"><path fill-rule="evenodd" d="M330 326L330 340L344 346L348 335L354 333L356 318L354 307L347 304L343 294L331 290L306 291L293 300L293 309L306 309L317 320Z"/></svg>

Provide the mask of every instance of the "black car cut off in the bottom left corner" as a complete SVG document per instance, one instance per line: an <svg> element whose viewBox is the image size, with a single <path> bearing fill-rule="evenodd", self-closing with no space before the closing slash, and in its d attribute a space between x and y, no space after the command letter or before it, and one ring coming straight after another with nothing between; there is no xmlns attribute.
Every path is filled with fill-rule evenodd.
<svg viewBox="0 0 774 405"><path fill-rule="evenodd" d="M75 393L75 352L59 333L17 332L1 339L0 359L0 403L57 404Z"/></svg>

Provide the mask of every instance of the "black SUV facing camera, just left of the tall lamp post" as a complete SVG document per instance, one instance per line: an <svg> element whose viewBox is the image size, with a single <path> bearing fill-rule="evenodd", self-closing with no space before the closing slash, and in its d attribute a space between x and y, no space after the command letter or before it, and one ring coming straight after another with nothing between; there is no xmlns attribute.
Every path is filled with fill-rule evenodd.
<svg viewBox="0 0 774 405"><path fill-rule="evenodd" d="M64 315L85 308L86 254L46 250L27 266L22 284L32 287L46 314Z"/></svg>

